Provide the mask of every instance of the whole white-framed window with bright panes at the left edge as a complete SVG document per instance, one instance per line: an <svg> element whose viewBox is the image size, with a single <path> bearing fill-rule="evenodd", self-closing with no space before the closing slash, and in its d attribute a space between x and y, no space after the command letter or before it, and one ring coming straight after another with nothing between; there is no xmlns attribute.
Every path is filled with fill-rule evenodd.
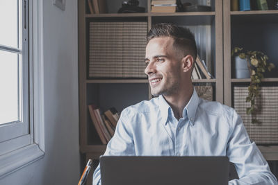
<svg viewBox="0 0 278 185"><path fill-rule="evenodd" d="M41 12L42 0L0 1L0 178L44 155Z"/></svg>

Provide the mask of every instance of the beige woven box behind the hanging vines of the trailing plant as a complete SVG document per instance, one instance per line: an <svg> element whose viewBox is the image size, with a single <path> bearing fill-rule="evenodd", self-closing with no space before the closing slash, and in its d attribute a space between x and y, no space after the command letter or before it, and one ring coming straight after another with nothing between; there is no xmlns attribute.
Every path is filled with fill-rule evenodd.
<svg viewBox="0 0 278 185"><path fill-rule="evenodd" d="M260 94L255 100L259 111L253 116L260 123L251 123L252 116L246 114L246 108L250 107L250 103L245 101L248 95L247 87L234 87L234 108L243 119L250 139L257 144L277 144L278 87L261 87Z"/></svg>

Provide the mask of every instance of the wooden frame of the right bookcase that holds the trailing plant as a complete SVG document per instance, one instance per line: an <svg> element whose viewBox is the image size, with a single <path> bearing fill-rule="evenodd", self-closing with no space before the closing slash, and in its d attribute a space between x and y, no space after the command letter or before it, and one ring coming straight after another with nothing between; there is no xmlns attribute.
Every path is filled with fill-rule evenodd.
<svg viewBox="0 0 278 185"><path fill-rule="evenodd" d="M231 11L230 1L223 1L223 46L224 46L224 104L233 105L233 87L235 85L244 86L250 83L250 78L232 78L231 49L235 46L244 49L263 51L267 53L270 62L276 62L275 51L270 49L276 47L271 39L278 40L278 10L252 10L252 11ZM254 29L253 29L254 28ZM238 34L238 33L242 34ZM271 36L270 36L271 35ZM254 39L251 39L254 38ZM265 43L265 44L263 44ZM264 47L265 45L270 46ZM266 50L265 50L266 49ZM277 85L277 68L262 80L263 84ZM270 161L278 160L278 146L258 146L265 159Z"/></svg>

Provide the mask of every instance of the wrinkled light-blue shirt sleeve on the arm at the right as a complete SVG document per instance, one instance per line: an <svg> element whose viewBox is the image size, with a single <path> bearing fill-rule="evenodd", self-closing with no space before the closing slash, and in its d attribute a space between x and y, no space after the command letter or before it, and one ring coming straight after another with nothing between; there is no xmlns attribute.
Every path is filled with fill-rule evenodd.
<svg viewBox="0 0 278 185"><path fill-rule="evenodd" d="M227 157L234 163L239 179L233 179L229 185L236 184L278 184L271 173L259 148L245 130L243 121L234 111L231 120L231 136L227 143Z"/></svg>

